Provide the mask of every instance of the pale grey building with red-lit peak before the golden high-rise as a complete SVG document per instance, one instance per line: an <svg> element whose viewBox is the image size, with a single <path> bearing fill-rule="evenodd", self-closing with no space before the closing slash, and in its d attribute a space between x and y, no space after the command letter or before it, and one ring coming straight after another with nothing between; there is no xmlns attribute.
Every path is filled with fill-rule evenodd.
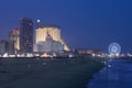
<svg viewBox="0 0 132 88"><path fill-rule="evenodd" d="M54 41L51 34L47 33L45 42L38 42L34 45L34 52L37 53L62 53L64 45L61 42Z"/></svg>

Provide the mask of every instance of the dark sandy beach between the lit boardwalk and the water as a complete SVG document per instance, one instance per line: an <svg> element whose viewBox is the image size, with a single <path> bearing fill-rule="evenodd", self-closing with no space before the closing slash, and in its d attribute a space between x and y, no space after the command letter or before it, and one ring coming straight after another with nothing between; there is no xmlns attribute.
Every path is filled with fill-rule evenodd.
<svg viewBox="0 0 132 88"><path fill-rule="evenodd" d="M0 88L85 88L105 66L97 59L1 59L8 79Z"/></svg>

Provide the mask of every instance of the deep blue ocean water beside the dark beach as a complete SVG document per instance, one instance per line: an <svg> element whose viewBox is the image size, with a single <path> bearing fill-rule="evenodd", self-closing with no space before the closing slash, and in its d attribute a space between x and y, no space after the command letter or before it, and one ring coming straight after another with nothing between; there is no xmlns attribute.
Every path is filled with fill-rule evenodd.
<svg viewBox="0 0 132 88"><path fill-rule="evenodd" d="M108 61L87 88L132 88L132 59Z"/></svg>

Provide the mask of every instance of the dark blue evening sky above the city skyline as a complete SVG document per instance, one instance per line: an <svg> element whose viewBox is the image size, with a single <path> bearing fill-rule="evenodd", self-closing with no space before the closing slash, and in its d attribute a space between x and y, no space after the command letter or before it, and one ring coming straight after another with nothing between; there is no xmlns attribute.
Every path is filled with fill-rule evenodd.
<svg viewBox="0 0 132 88"><path fill-rule="evenodd" d="M107 52L117 42L122 52L132 53L131 4L131 0L0 0L0 37L25 16L59 25L72 48Z"/></svg>

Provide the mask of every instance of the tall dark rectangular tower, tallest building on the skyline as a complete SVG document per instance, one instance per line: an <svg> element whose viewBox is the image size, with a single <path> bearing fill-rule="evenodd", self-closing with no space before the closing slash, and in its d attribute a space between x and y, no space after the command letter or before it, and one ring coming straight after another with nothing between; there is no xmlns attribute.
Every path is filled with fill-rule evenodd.
<svg viewBox="0 0 132 88"><path fill-rule="evenodd" d="M21 53L33 52L33 22L29 18L20 20L20 51Z"/></svg>

